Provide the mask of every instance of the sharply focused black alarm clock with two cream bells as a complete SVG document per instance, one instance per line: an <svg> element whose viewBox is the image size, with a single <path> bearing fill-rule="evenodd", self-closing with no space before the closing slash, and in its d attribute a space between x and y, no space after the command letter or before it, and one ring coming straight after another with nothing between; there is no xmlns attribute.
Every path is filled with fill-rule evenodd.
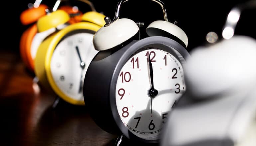
<svg viewBox="0 0 256 146"><path fill-rule="evenodd" d="M188 37L168 21L163 2L158 3L165 20L152 22L149 37L135 40L138 25L119 19L119 1L113 21L93 36L99 53L84 79L85 104L95 123L103 130L130 140L157 143L171 107L184 93L183 67L189 53Z"/></svg>

